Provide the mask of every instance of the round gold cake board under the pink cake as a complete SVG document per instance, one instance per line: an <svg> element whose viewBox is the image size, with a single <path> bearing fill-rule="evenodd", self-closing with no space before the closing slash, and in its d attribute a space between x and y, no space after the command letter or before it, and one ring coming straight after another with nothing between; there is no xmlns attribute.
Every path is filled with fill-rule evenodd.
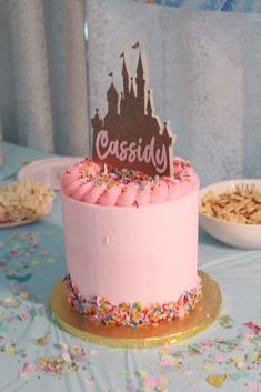
<svg viewBox="0 0 261 392"><path fill-rule="evenodd" d="M132 329L84 320L71 310L62 281L54 285L50 295L52 318L70 334L99 345L142 349L173 344L203 331L219 315L222 303L220 288L207 273L199 271L199 275L202 280L202 298L193 311L183 319L157 326L145 325Z"/></svg>

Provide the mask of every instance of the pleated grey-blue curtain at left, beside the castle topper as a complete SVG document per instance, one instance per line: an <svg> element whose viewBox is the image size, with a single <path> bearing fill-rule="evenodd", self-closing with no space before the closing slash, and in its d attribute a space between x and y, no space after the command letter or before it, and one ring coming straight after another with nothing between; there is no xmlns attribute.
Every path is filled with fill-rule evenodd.
<svg viewBox="0 0 261 392"><path fill-rule="evenodd" d="M1 0L0 53L3 139L87 154L84 1Z"/></svg>

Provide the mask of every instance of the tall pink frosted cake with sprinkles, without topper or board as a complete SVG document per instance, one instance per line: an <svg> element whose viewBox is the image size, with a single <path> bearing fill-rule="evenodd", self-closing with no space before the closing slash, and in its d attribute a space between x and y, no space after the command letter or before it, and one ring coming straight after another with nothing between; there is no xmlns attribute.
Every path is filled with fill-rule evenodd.
<svg viewBox="0 0 261 392"><path fill-rule="evenodd" d="M84 160L62 175L68 301L88 320L140 326L188 314L198 277L199 180Z"/></svg>

